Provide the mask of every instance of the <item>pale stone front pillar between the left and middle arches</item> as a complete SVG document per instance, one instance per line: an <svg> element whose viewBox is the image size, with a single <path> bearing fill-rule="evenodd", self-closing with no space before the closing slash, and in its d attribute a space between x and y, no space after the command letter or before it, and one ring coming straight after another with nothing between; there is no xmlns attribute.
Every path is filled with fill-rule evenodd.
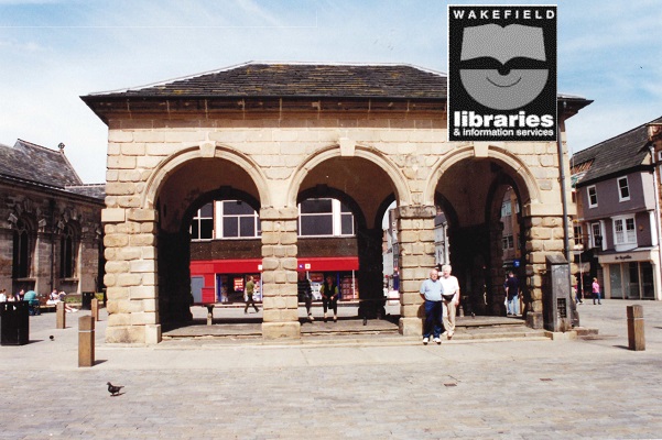
<svg viewBox="0 0 662 440"><path fill-rule="evenodd" d="M301 338L296 290L296 208L261 209L262 337Z"/></svg>

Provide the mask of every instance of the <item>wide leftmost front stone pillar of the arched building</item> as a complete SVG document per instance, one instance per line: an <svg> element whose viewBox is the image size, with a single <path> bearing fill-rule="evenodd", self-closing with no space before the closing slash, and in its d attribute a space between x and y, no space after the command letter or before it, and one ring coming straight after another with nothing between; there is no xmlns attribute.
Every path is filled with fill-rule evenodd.
<svg viewBox="0 0 662 440"><path fill-rule="evenodd" d="M111 208L105 209L101 218L106 230L106 341L145 343L145 326L159 324L158 213L151 209Z"/></svg>

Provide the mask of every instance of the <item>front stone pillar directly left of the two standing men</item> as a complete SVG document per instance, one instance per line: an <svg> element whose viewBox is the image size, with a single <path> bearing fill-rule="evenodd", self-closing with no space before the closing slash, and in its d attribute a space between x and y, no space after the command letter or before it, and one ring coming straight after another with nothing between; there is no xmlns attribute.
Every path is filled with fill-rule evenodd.
<svg viewBox="0 0 662 440"><path fill-rule="evenodd" d="M395 210L400 231L400 333L417 336L423 331L421 283L435 266L434 206L408 206Z"/></svg>

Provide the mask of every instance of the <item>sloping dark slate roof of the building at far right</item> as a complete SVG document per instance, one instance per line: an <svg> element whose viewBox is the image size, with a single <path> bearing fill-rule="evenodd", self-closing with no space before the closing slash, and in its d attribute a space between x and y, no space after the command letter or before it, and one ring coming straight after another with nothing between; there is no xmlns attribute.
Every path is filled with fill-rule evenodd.
<svg viewBox="0 0 662 440"><path fill-rule="evenodd" d="M577 185L585 186L645 165L650 155L649 123L662 123L662 117L575 153L571 158L573 173L585 172Z"/></svg>

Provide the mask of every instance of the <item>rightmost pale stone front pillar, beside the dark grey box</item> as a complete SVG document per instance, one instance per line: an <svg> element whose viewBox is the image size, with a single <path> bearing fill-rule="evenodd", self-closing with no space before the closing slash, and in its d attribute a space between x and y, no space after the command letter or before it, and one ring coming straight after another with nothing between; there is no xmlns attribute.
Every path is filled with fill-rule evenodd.
<svg viewBox="0 0 662 440"><path fill-rule="evenodd" d="M543 290L542 276L546 271L546 255L563 253L562 217L523 217L523 233L527 238L527 288L529 292L527 324L542 329Z"/></svg>

